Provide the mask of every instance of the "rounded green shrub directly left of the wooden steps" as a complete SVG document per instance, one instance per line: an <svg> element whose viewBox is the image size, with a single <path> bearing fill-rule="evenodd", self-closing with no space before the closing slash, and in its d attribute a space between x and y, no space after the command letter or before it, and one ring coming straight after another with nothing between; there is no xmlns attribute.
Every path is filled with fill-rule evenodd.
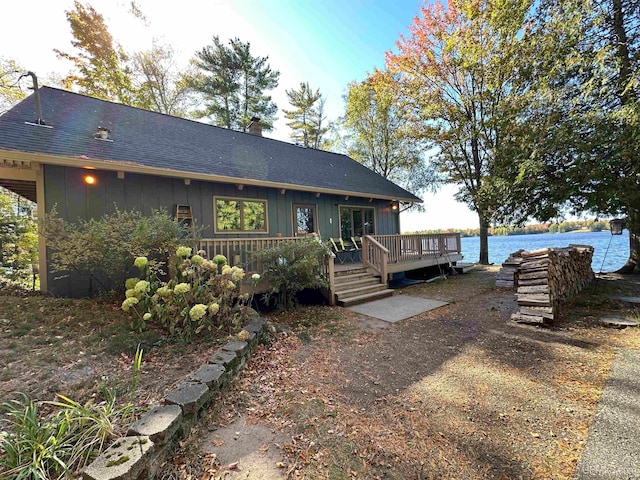
<svg viewBox="0 0 640 480"><path fill-rule="evenodd" d="M266 299L276 299L278 310L297 306L296 295L305 289L327 288L323 265L329 249L314 238L282 242L276 247L254 253L263 266L263 276L271 285Z"/></svg>

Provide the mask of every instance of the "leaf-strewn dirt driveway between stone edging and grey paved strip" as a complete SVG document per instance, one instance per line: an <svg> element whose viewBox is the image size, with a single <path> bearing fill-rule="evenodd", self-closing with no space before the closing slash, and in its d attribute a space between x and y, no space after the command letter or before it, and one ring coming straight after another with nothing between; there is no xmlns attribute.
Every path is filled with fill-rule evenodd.
<svg viewBox="0 0 640 480"><path fill-rule="evenodd" d="M609 297L639 295L640 279L603 276L539 328L509 320L496 270L403 289L450 304L396 324L326 307L271 317L280 333L164 478L572 478L617 349L640 348L637 328L598 319L638 319Z"/></svg>

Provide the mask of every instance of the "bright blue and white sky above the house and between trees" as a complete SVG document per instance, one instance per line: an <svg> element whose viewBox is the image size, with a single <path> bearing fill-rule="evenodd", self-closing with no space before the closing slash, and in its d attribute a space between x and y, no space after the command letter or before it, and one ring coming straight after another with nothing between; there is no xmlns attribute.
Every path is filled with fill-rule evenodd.
<svg viewBox="0 0 640 480"><path fill-rule="evenodd" d="M183 65L212 43L238 37L255 56L268 56L280 71L271 92L279 109L288 108L285 90L309 82L326 98L328 120L342 115L343 95L351 81L384 67L385 52L419 13L422 0L137 0L146 22L128 13L128 0L90 3L125 51L148 50L153 39L169 44ZM53 49L73 52L65 11L73 0L3 2L0 56L12 58L44 78L65 76L69 62ZM44 82L46 84L46 82ZM23 89L28 86L23 83ZM283 115L265 136L290 141ZM423 195L425 212L403 212L403 232L437 228L477 228L477 215L453 198L455 187Z"/></svg>

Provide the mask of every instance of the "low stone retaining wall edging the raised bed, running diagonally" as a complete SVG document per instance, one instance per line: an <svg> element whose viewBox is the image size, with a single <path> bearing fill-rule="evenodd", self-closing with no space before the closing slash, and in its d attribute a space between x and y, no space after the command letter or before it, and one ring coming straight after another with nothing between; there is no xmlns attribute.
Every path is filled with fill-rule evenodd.
<svg viewBox="0 0 640 480"><path fill-rule="evenodd" d="M244 330L247 341L227 343L206 365L156 406L129 426L127 436L116 440L91 465L84 469L85 480L153 479L160 466L173 453L178 441L206 413L207 407L242 370L251 354L264 339L266 323L257 318Z"/></svg>

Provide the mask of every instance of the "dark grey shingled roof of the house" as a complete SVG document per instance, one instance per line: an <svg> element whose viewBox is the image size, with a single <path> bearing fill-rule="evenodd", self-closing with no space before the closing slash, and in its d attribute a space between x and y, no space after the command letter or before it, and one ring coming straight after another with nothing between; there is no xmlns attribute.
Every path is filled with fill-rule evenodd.
<svg viewBox="0 0 640 480"><path fill-rule="evenodd" d="M142 165L239 181L251 179L282 188L298 185L354 196L421 201L345 155L56 88L40 88L40 102L42 118L53 128L25 124L36 120L31 95L0 117L0 149L119 162L117 169L124 171L126 164ZM113 142L93 138L99 126L111 131ZM83 165L82 160L78 165Z"/></svg>

